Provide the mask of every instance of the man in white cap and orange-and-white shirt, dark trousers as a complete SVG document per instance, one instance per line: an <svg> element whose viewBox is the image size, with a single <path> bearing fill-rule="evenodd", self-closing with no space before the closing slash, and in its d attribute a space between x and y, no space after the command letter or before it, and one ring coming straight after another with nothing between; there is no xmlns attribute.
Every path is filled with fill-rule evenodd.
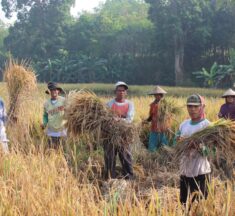
<svg viewBox="0 0 235 216"><path fill-rule="evenodd" d="M131 101L126 100L128 86L125 82L117 82L115 84L115 99L107 103L118 116L117 121L126 121L131 123L134 118L134 105ZM133 179L132 156L130 147L113 146L108 141L104 144L104 162L105 162L105 178L115 178L116 155L119 155L122 164L123 175L125 179Z"/></svg>

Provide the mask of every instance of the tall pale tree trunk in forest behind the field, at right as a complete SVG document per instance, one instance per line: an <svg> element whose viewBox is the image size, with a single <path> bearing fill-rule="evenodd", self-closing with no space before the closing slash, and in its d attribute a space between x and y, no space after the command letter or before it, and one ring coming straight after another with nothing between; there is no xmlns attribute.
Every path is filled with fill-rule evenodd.
<svg viewBox="0 0 235 216"><path fill-rule="evenodd" d="M174 38L175 48L175 85L181 85L184 78L184 38L176 35Z"/></svg>

